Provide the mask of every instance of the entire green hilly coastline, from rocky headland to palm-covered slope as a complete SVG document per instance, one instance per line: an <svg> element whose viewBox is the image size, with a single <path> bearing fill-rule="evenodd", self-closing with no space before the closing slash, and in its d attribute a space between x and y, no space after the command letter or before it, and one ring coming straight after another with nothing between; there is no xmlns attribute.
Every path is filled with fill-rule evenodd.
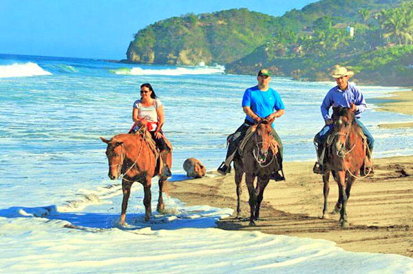
<svg viewBox="0 0 413 274"><path fill-rule="evenodd" d="M281 17L245 8L185 14L140 30L126 61L218 63L252 75L268 67L301 80L330 80L339 64L360 82L413 85L413 0L321 0Z"/></svg>

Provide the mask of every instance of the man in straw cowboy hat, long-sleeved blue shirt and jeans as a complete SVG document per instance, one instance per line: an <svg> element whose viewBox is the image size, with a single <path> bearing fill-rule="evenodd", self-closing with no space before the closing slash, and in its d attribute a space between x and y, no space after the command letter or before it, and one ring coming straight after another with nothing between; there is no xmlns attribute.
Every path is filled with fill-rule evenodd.
<svg viewBox="0 0 413 274"><path fill-rule="evenodd" d="M332 132L332 119L328 110L331 106L341 106L346 108L351 108L355 111L354 117L357 124L363 130L364 135L367 137L368 147L370 149L369 159L371 157L371 152L373 151L374 138L367 130L366 126L360 122L361 113L366 111L366 100L364 100L363 93L354 84L349 83L348 79L354 75L353 71L348 71L345 67L337 67L335 71L332 72L332 77L335 78L337 86L333 87L328 91L326 97L321 104L321 115L323 115L326 126L316 135L317 137L317 147L318 147L318 157L319 161L314 166L313 171L315 173L323 174L322 163L324 161L324 144L326 143L328 135ZM323 158L323 159L321 159ZM366 167L368 168L368 167ZM372 174L372 170L370 171Z"/></svg>

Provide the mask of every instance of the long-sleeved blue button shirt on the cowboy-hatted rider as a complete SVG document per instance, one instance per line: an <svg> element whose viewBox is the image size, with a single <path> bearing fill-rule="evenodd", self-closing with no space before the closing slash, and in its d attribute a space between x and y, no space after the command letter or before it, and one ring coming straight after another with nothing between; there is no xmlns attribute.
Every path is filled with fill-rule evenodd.
<svg viewBox="0 0 413 274"><path fill-rule="evenodd" d="M360 118L361 113L367 109L366 100L364 100L363 93L361 93L360 89L350 82L345 91L341 91L338 86L333 87L328 91L321 104L321 115L323 115L324 120L330 119L328 110L331 106L350 108L351 103L357 106L357 111L354 117Z"/></svg>

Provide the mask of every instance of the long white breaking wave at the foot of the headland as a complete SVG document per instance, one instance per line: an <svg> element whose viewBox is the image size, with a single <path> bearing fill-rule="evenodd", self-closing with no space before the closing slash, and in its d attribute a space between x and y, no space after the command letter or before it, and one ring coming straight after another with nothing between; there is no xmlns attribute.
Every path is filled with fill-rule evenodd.
<svg viewBox="0 0 413 274"><path fill-rule="evenodd" d="M180 75L200 75L200 74L222 74L225 71L223 66L216 67L177 67L175 69L142 69L141 67L133 67L131 69L122 67L120 69L111 69L111 73L118 75L164 75L164 76L180 76Z"/></svg>

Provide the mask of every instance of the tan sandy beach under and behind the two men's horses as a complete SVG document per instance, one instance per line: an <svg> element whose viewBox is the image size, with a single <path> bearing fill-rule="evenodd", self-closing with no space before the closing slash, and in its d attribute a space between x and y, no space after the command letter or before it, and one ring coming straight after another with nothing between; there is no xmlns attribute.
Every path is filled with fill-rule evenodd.
<svg viewBox="0 0 413 274"><path fill-rule="evenodd" d="M395 93L380 111L413 115L413 92ZM271 181L264 192L260 220L248 226L248 190L243 182L242 217L221 220L229 230L259 230L337 242L347 251L395 253L413 258L413 156L374 159L372 178L358 179L348 201L350 228L341 229L339 214L321 219L324 205L321 175L312 162L284 164L286 181ZM208 204L236 209L233 172L209 172L202 179L170 183L170 194L188 205ZM329 211L338 198L337 183L330 179Z"/></svg>

